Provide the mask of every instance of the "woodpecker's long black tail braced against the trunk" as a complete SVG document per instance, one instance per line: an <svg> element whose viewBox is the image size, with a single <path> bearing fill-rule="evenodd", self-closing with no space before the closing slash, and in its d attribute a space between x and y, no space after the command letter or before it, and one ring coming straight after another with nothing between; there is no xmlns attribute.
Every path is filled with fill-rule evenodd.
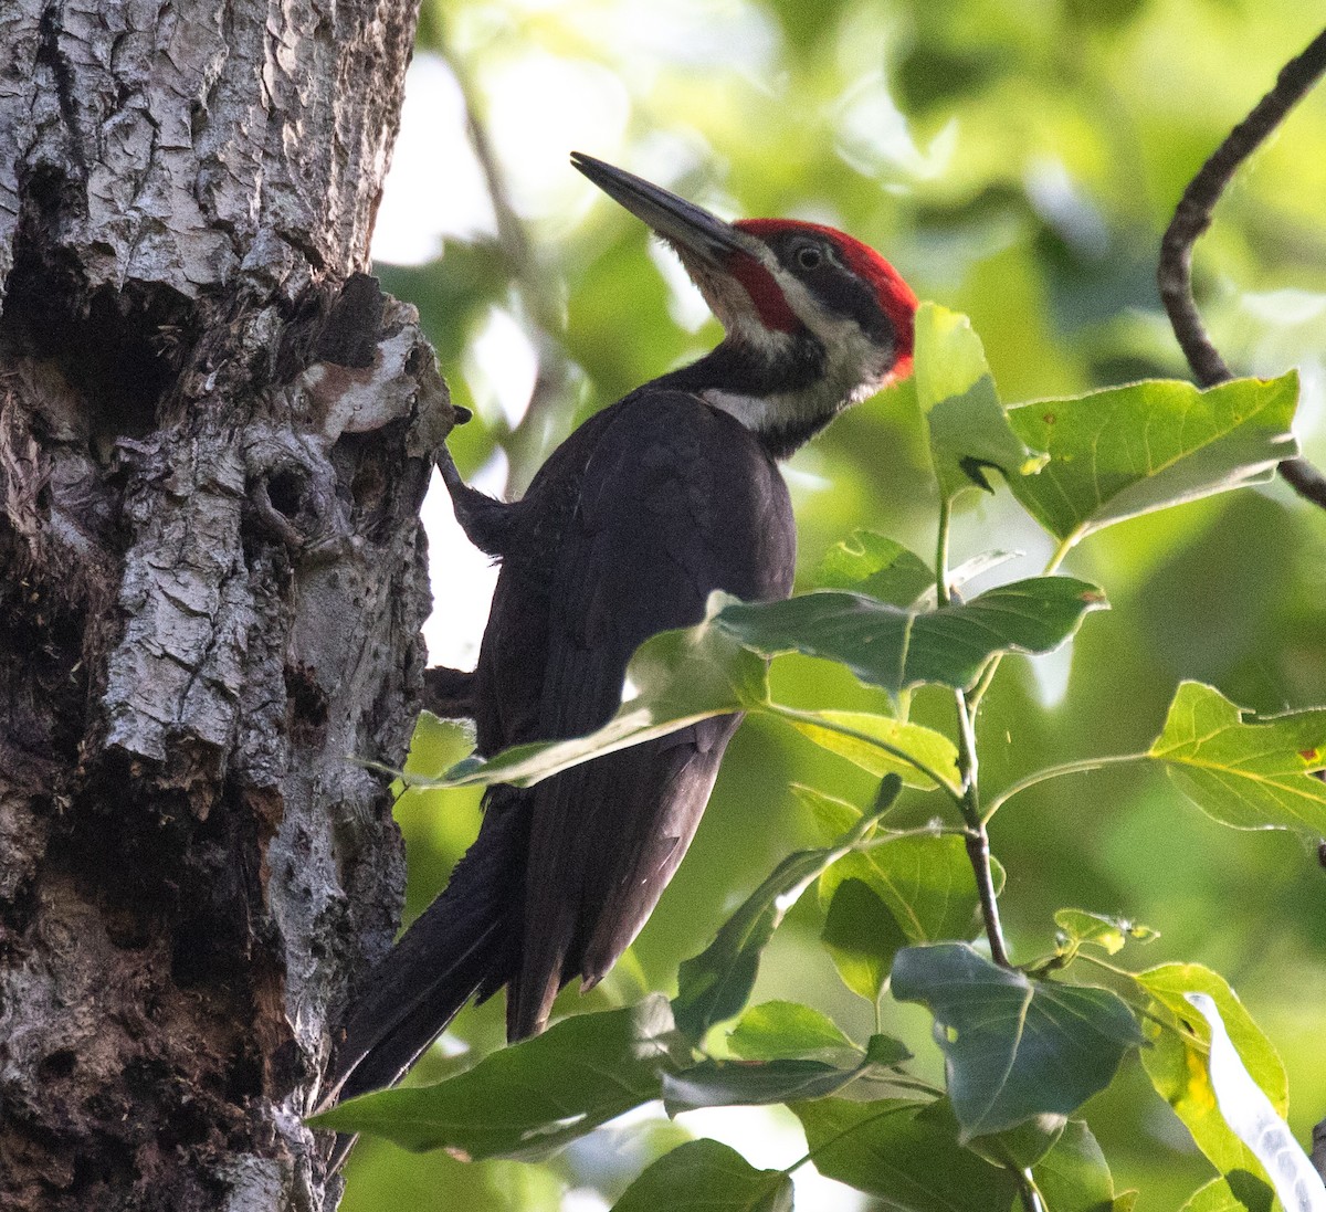
<svg viewBox="0 0 1326 1212"><path fill-rule="evenodd" d="M318 1110L398 1082L471 997L505 984L512 963L508 922L520 914L526 845L528 821L518 801L508 805L495 797L446 891L369 973L351 1004ZM338 1142L333 1166L343 1160L351 1139Z"/></svg>

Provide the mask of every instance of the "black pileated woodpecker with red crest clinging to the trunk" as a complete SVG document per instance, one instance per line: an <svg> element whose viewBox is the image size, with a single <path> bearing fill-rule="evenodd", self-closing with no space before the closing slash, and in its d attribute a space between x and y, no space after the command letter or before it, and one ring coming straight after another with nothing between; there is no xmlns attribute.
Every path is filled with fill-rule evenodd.
<svg viewBox="0 0 1326 1212"><path fill-rule="evenodd" d="M727 335L585 422L520 501L443 460L465 534L503 564L475 672L430 671L485 756L605 724L635 648L699 622L711 590L786 597L796 530L774 460L911 371L916 297L861 241L724 223L602 160L572 163L672 245ZM686 854L737 721L492 788L451 883L351 1006L328 1099L399 1079L471 997L505 985L514 1041L542 1030L572 977L601 980Z"/></svg>

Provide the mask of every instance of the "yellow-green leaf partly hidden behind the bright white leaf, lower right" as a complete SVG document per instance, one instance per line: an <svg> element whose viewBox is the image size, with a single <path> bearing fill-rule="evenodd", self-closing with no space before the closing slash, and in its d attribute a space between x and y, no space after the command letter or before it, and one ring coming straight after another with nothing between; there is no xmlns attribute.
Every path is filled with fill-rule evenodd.
<svg viewBox="0 0 1326 1212"><path fill-rule="evenodd" d="M1185 995L1205 993L1216 1002L1244 1066L1277 1114L1284 1115L1289 1105L1289 1082L1270 1040L1252 1021L1225 979L1201 964L1162 964L1138 972L1134 979L1151 996L1152 1014L1172 1024L1162 1028L1148 1021L1144 1026L1152 1046L1142 1050L1142 1066L1151 1085L1174 1107L1197 1148L1217 1170L1227 1175L1236 1170L1260 1172L1252 1152L1233 1134L1216 1105L1216 1091L1207 1071L1209 1030Z"/></svg>

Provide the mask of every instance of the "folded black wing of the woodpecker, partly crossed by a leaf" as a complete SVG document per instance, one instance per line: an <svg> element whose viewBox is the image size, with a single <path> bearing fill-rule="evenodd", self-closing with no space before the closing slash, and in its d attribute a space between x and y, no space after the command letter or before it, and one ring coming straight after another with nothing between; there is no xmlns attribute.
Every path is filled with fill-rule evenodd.
<svg viewBox="0 0 1326 1212"><path fill-rule="evenodd" d="M514 635L495 614L497 634L485 636L495 655L546 654L537 719L526 712L503 729L505 743L598 728L621 701L635 648L699 622L712 590L749 601L792 587L788 492L745 428L678 391L642 389L609 412L595 418L556 552L544 553L554 557L545 621L522 610L529 634ZM565 475L549 484L564 487ZM503 577L520 578L518 564L508 561ZM517 671L508 671L509 680ZM507 716L514 724L521 713L517 705ZM736 723L705 720L522 793L530 834L508 993L513 1038L542 1028L577 972L598 980L644 924L691 842Z"/></svg>

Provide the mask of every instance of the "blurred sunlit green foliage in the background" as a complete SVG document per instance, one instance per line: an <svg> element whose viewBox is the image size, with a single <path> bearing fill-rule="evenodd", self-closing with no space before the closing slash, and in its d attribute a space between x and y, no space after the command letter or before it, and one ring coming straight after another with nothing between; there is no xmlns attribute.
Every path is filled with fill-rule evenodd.
<svg viewBox="0 0 1326 1212"><path fill-rule="evenodd" d="M1160 233L1187 180L1319 20L1311 5L1257 0L426 0L420 53L443 54L460 73L525 243L447 240L434 264L378 272L419 306L459 403L487 394L489 370L464 354L495 306L538 325L541 354L564 359L562 382L582 385L537 402L514 434L491 410L456 431L463 472L501 444L516 487L575 420L717 339L712 321L688 329L693 301L651 260L642 227L566 166L575 147L724 215L814 219L867 240L922 298L972 317L1005 400L1181 377L1154 285ZM549 113L574 111L541 89L577 81L594 121L550 130ZM1301 367L1299 436L1318 463L1323 146L1319 93L1240 174L1195 259L1199 304L1227 361L1244 374ZM529 186L530 163L548 166L549 192ZM806 579L861 526L931 550L937 496L914 398L910 385L892 389L792 460ZM1184 678L1265 712L1326 700L1323 530L1321 513L1276 483L1087 540L1065 570L1102 585L1114 609L1078 635L1071 666L1059 655L1000 672L980 721L983 784L997 790L1045 765L1144 749ZM984 550L991 534L1028 553L1000 579L1034 576L1050 552L1002 488L960 499L952 562ZM806 708L884 703L809 658L781 660L773 694ZM914 720L947 729L949 716L947 697L918 695ZM415 760L438 770L467 749L457 732L426 728ZM747 724L633 952L605 985L585 999L569 991L562 1005L603 1009L643 988L672 992L679 961L740 896L815 841L793 782L857 802L873 792L869 777L812 743ZM446 882L476 829L477 798L402 798L407 916ZM912 809L918 822L931 810L920 798ZM1148 963L1216 968L1274 1041L1290 1123L1306 1139L1326 1113L1326 877L1314 854L1289 834L1223 829L1134 768L1034 788L992 833L1014 957L1050 949L1062 906L1156 927ZM876 1024L838 980L822 928L821 908L804 898L765 956L754 1001L810 1001L865 1038ZM928 1057L937 1078L928 1017L888 997L882 1008L878 1026L907 1040L920 1063ZM448 1040L481 1054L499 1045L500 1020L497 1004L467 1010ZM435 1050L411 1081L469 1060ZM1140 1188L1140 1208L1177 1208L1211 1175L1135 1057L1086 1110L1118 1189ZM342 1207L605 1208L682 1135L667 1123L609 1128L538 1167L365 1142Z"/></svg>

